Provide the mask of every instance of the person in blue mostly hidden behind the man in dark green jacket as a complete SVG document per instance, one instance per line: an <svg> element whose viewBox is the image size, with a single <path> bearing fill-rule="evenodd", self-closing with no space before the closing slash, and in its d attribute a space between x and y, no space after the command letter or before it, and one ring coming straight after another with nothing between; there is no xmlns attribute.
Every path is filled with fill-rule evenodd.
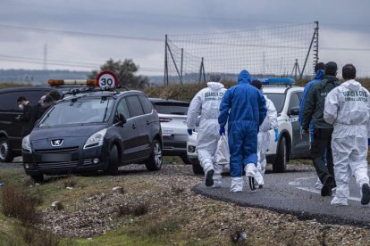
<svg viewBox="0 0 370 246"><path fill-rule="evenodd" d="M300 127L302 128L302 122L303 122L303 111L305 110L305 102L306 102L306 97L308 94L309 89L311 88L312 85L314 85L316 82L320 82L324 78L324 69L325 69L325 64L324 62L319 62L315 65L315 79L312 81L309 81L307 85L305 86L305 89L303 90L302 94L302 99L300 100L299 103L299 124ZM314 125L311 121L309 124L309 141L312 143L312 140L314 139ZM321 184L320 179L317 177L317 181L315 183L315 188L317 190L321 190L323 187L323 184Z"/></svg>

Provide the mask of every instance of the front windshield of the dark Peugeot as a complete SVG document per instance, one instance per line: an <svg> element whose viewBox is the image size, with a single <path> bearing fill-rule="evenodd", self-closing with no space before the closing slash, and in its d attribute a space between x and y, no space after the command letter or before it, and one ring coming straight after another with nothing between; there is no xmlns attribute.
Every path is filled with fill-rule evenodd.
<svg viewBox="0 0 370 246"><path fill-rule="evenodd" d="M113 99L106 97L59 102L46 111L38 127L103 123L109 119L113 104Z"/></svg>

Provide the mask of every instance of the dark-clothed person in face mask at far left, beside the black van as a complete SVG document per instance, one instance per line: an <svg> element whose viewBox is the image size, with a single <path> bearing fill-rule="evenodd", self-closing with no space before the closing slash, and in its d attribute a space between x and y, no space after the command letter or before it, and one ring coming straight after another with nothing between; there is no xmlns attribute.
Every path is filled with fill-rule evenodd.
<svg viewBox="0 0 370 246"><path fill-rule="evenodd" d="M29 135L35 126L35 122L38 117L36 107L32 106L26 97L20 96L17 100L18 107L23 111L16 119L19 119L22 123L21 136L24 137Z"/></svg>

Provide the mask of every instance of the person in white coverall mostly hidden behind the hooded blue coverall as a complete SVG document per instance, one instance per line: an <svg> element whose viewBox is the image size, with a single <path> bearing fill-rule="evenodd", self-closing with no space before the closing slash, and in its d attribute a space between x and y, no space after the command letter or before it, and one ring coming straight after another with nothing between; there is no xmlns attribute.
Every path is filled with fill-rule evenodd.
<svg viewBox="0 0 370 246"><path fill-rule="evenodd" d="M262 91L262 82L259 80L253 80L250 84L255 86L258 90ZM270 130L273 129L275 132L274 140L277 142L279 140L279 130L278 130L278 121L277 121L277 112L275 106L273 105L273 101L265 96L266 108L267 113L262 122L261 126L259 126L259 132L257 135L257 172L256 172L256 183L259 185L259 188L265 184L264 176L266 170L266 152L268 145L270 144Z"/></svg>

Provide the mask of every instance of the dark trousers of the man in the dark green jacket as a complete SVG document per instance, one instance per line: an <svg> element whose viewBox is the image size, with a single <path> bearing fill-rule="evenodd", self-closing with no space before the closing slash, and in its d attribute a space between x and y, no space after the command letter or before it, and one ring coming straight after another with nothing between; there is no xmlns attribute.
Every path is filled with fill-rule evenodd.
<svg viewBox="0 0 370 246"><path fill-rule="evenodd" d="M332 129L315 128L311 145L311 158L322 184L328 176L334 177L332 163ZM326 158L326 165L325 165Z"/></svg>

